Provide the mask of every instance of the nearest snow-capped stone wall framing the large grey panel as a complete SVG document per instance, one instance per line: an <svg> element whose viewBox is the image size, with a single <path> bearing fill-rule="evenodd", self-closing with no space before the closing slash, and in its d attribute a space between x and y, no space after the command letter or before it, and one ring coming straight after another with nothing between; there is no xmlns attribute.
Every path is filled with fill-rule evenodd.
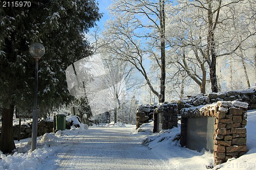
<svg viewBox="0 0 256 170"><path fill-rule="evenodd" d="M215 117L214 158L215 164L238 158L247 152L246 124L248 103L219 101L203 107L181 110L181 145L186 144L187 118Z"/></svg>

